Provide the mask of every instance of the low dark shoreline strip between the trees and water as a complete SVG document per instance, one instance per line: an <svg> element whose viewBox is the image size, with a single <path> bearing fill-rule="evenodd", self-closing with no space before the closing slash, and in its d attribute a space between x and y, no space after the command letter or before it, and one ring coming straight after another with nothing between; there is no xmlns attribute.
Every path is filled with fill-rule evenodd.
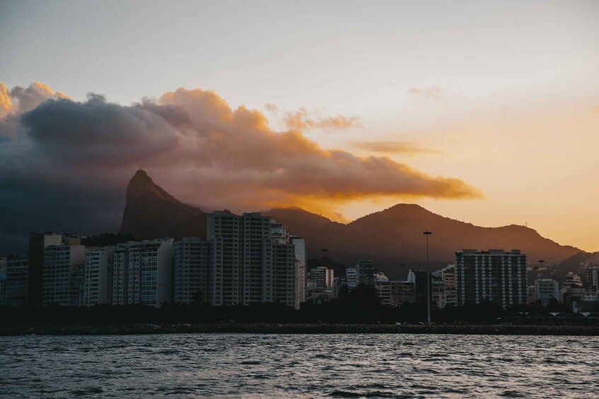
<svg viewBox="0 0 599 399"><path fill-rule="evenodd" d="M187 333L251 334L462 334L462 335L588 335L599 336L599 326L506 326L397 324L103 324L1 327L0 336L16 335L149 335Z"/></svg>

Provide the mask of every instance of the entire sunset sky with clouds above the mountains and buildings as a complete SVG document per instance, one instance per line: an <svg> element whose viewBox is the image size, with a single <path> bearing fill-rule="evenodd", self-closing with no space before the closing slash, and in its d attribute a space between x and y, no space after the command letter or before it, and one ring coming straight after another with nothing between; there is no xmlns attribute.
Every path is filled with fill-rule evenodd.
<svg viewBox="0 0 599 399"><path fill-rule="evenodd" d="M418 203L599 251L596 1L0 0L0 239ZM21 239L19 238L21 237Z"/></svg>

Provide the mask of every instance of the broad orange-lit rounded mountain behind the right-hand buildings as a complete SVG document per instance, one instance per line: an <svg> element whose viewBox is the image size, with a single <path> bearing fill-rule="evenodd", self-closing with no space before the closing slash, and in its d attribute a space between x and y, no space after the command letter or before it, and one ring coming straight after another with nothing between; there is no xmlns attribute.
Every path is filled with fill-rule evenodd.
<svg viewBox="0 0 599 399"><path fill-rule="evenodd" d="M408 267L426 266L426 237L430 231L429 263L439 268L453 263L460 249L521 249L530 264L539 259L545 265L559 263L580 251L562 246L524 226L479 227L436 215L414 204L398 204L347 225L331 223L310 234L307 242L327 248L327 256L346 264L357 259L373 259L378 268L397 275L401 263ZM310 251L318 256L318 251Z"/></svg>

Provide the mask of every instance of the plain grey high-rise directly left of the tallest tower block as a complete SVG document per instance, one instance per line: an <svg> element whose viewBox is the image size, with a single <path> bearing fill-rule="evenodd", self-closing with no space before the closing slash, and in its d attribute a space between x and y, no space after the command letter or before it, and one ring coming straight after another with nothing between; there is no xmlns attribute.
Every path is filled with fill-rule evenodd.
<svg viewBox="0 0 599 399"><path fill-rule="evenodd" d="M198 237L186 237L174 247L175 303L207 303L208 243Z"/></svg>

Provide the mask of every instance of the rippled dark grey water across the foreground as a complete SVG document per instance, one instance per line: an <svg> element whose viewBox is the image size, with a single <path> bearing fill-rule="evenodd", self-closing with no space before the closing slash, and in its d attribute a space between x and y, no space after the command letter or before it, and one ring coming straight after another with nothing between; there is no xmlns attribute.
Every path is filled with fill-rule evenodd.
<svg viewBox="0 0 599 399"><path fill-rule="evenodd" d="M0 337L0 395L599 395L599 339L513 335Z"/></svg>

